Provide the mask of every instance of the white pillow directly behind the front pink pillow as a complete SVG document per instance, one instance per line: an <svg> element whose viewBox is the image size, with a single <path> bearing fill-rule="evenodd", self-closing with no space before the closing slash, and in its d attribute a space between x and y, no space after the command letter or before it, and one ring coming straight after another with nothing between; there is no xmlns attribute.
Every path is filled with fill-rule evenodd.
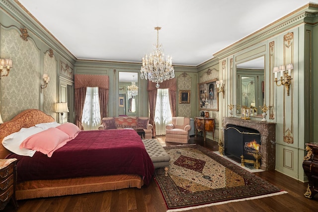
<svg viewBox="0 0 318 212"><path fill-rule="evenodd" d="M4 137L4 139L2 140L2 145L15 154L32 157L36 150L20 148L20 144L28 137L42 131L43 129L39 127L21 128L19 132L12 133Z"/></svg>

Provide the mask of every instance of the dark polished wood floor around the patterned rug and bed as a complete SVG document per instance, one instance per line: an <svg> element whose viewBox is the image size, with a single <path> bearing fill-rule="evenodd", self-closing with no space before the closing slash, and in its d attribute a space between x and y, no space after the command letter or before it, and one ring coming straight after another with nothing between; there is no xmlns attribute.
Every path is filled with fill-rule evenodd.
<svg viewBox="0 0 318 212"><path fill-rule="evenodd" d="M165 143L163 146L179 145ZM203 142L202 137L191 137L189 143L197 143L213 151L218 150L215 141ZM292 179L277 171L264 171L255 175L288 192L288 194L223 204L189 212L317 212L318 195L313 199L304 197L307 183ZM129 188L81 195L54 198L41 198L18 201L19 208L12 209L9 204L3 211L8 212L165 212L166 206L154 180L142 189Z"/></svg>

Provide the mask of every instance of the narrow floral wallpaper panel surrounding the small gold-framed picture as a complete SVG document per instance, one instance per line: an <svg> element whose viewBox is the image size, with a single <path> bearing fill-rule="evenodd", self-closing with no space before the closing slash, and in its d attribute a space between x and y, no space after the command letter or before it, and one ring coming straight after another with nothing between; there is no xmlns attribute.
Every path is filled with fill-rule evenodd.
<svg viewBox="0 0 318 212"><path fill-rule="evenodd" d="M177 91L177 102L179 102L179 90L191 90L191 77L183 72L178 76L178 91ZM191 102L195 101L193 97L194 93L190 93L190 104L178 104L177 116L191 117Z"/></svg>

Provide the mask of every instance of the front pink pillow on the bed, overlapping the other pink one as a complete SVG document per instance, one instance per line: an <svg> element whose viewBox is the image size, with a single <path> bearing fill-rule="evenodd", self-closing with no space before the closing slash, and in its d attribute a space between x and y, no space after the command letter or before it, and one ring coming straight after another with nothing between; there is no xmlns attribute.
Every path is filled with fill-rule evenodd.
<svg viewBox="0 0 318 212"><path fill-rule="evenodd" d="M49 128L25 139L20 148L33 149L51 157L53 152L72 140L70 136L56 128Z"/></svg>

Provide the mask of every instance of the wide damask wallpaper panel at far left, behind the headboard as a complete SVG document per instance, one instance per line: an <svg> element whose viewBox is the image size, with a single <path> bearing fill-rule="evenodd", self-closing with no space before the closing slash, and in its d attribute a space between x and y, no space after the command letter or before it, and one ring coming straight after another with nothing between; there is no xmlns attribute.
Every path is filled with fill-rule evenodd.
<svg viewBox="0 0 318 212"><path fill-rule="evenodd" d="M0 36L1 57L13 61L0 82L1 116L8 121L25 109L39 108L40 50L32 39L24 41L18 29L1 27Z"/></svg>

